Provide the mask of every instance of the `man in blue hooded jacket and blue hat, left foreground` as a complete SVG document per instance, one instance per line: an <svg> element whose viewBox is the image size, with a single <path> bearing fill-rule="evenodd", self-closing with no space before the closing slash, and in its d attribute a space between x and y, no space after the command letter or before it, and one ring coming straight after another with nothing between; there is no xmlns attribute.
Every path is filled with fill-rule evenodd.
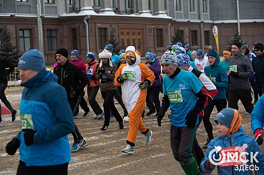
<svg viewBox="0 0 264 175"><path fill-rule="evenodd" d="M20 102L22 131L7 144L8 154L20 147L17 174L67 174L71 160L67 134L74 131L73 115L58 77L47 72L44 56L37 49L19 60L25 86Z"/></svg>

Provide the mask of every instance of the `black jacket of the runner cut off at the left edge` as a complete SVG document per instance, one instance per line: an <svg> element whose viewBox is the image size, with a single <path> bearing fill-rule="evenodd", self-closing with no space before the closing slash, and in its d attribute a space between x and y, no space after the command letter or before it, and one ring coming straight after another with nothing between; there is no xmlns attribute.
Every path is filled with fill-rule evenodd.
<svg viewBox="0 0 264 175"><path fill-rule="evenodd" d="M6 68L9 67L8 70ZM0 83L1 82L8 82L8 78L3 78L3 76L7 73L10 74L12 71L14 71L15 65L9 61L7 58L0 57Z"/></svg>

